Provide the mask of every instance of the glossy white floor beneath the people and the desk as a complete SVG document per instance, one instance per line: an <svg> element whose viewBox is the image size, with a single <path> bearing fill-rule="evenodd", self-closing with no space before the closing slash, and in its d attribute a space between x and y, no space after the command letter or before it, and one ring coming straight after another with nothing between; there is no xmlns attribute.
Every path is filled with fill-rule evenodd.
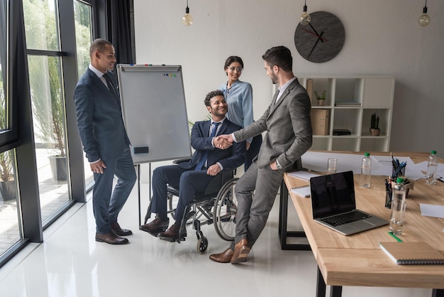
<svg viewBox="0 0 444 297"><path fill-rule="evenodd" d="M217 236L213 225L202 228L209 239L203 255L196 252L191 226L187 241L180 244L140 231L136 187L119 217L122 227L133 229L130 244L95 242L91 200L74 205L45 230L43 244L28 244L1 267L0 296L315 296L313 254L279 247L279 200L248 261L218 264L208 259L209 254L223 251L228 242ZM141 185L141 193L148 193L148 184ZM148 194L143 198L145 215ZM298 222L290 208L289 229L295 229ZM431 293L415 288L343 288L344 297L430 297Z"/></svg>

